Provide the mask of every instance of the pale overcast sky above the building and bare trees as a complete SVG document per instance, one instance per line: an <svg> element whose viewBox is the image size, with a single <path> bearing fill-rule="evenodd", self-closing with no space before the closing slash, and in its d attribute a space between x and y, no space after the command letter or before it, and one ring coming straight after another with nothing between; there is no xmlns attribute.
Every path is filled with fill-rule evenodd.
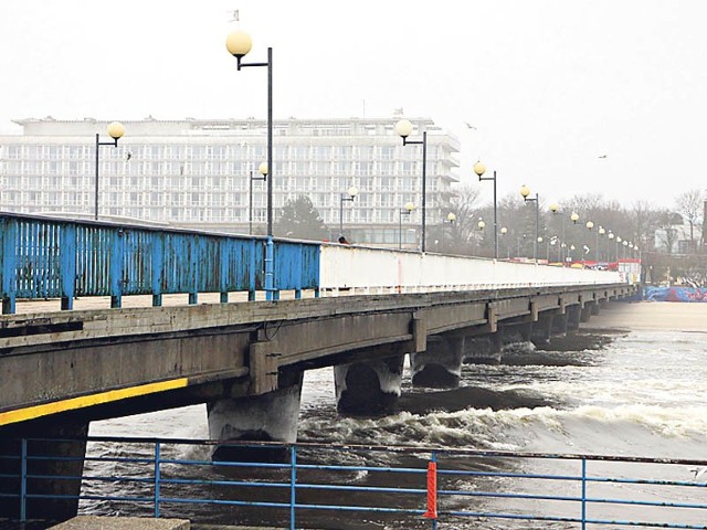
<svg viewBox="0 0 707 530"><path fill-rule="evenodd" d="M251 61L273 47L276 118L402 107L458 136L463 182L481 157L499 195L671 205L707 189L706 23L704 0L3 0L0 132L264 118L265 68L224 47L240 25Z"/></svg>

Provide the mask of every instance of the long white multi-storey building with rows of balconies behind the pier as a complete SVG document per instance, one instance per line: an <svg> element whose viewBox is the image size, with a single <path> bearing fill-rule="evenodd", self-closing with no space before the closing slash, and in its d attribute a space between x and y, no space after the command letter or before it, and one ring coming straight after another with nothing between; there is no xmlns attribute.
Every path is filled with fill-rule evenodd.
<svg viewBox="0 0 707 530"><path fill-rule="evenodd" d="M330 229L357 243L393 245L419 239L422 146L402 145L390 118L279 119L273 124L273 215L307 195ZM426 225L442 224L456 181L458 140L430 118L411 119L411 140L428 131ZM18 119L21 135L0 136L0 210L92 219L95 135L108 120ZM251 174L266 160L262 119L126 120L117 147L101 146L99 219L128 219L234 233L264 233L266 186ZM341 197L359 190L352 202ZM400 215L404 204L416 210ZM276 234L277 235L277 234Z"/></svg>

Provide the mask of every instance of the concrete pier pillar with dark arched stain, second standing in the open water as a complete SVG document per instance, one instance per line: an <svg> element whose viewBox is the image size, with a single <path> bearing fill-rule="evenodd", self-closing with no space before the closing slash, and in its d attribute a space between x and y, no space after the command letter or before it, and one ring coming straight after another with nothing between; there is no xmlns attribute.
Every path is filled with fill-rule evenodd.
<svg viewBox="0 0 707 530"><path fill-rule="evenodd" d="M346 414L390 414L400 398L405 356L334 367L337 410Z"/></svg>

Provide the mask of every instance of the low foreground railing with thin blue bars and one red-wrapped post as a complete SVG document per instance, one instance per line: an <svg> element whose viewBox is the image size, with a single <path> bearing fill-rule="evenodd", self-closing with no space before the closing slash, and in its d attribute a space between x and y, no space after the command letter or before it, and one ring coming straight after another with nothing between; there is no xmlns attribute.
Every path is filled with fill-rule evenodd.
<svg viewBox="0 0 707 530"><path fill-rule="evenodd" d="M400 529L478 528L488 520L494 528L503 521L524 521L508 528L707 528L707 484L690 471L703 460L91 437L83 474L55 476L51 463L65 468L81 458L32 449L39 442L48 446L23 439L20 454L0 457L0 469L15 469L0 475L0 502L19 502L21 520L28 502L75 499L85 513L291 529L330 528L327 521L341 517ZM215 445L287 457L211 462ZM83 485L80 495L42 486L72 480Z"/></svg>

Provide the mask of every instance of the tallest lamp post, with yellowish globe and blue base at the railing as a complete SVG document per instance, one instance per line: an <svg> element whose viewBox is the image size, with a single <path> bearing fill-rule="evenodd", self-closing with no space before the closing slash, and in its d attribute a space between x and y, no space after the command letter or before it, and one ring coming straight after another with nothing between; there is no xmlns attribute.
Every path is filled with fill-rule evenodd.
<svg viewBox="0 0 707 530"><path fill-rule="evenodd" d="M277 298L274 286L274 250L273 250L273 49L267 49L267 62L244 63L243 57L251 51L253 41L246 32L236 30L226 36L225 47L236 59L239 72L246 66L267 67L267 241L265 243L265 297ZM267 178L270 176L270 178Z"/></svg>

